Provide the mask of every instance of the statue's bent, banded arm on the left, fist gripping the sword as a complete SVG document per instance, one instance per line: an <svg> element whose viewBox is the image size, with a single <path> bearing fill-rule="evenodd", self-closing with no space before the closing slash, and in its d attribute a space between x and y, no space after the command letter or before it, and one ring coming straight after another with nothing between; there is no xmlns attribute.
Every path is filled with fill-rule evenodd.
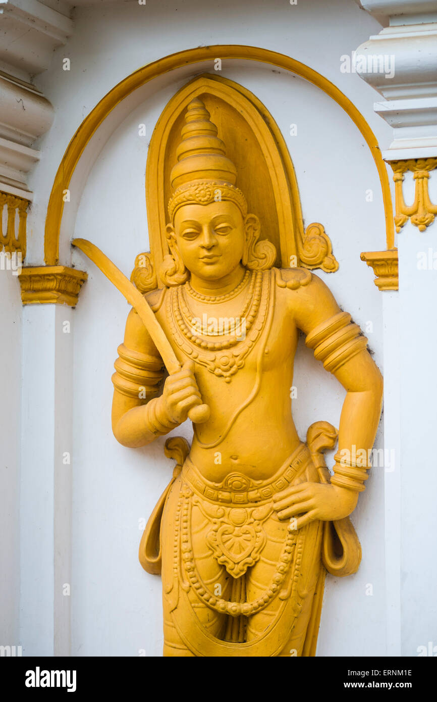
<svg viewBox="0 0 437 702"><path fill-rule="evenodd" d="M150 444L182 424L191 407L201 403L194 364L163 379L163 362L135 310L128 314L123 344L112 376L112 431L123 446Z"/></svg>

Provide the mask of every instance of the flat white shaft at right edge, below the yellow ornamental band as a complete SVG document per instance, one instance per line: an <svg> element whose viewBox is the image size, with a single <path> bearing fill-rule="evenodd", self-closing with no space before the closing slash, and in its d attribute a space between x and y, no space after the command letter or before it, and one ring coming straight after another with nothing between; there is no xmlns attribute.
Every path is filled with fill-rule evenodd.
<svg viewBox="0 0 437 702"><path fill-rule="evenodd" d="M408 173L405 177L405 201L408 203L412 201L413 188L412 173ZM436 202L436 171L429 178L429 194L431 202ZM402 654L417 656L419 647L425 647L428 655L436 656L437 604L433 586L437 580L437 461L434 446L437 418L436 224L419 232L408 222L398 238L402 312ZM426 267L422 265L424 254ZM431 654L430 649L433 650Z"/></svg>

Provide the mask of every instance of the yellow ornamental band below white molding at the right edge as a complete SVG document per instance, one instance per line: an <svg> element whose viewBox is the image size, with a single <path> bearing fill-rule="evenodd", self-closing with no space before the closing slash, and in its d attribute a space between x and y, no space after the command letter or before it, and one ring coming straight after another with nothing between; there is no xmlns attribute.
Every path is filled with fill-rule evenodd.
<svg viewBox="0 0 437 702"><path fill-rule="evenodd" d="M410 219L420 232L424 232L426 227L433 223L437 214L437 205L433 205L429 199L428 179L429 171L437 168L437 157L429 159L405 159L403 161L389 161L394 172L393 180L396 193L396 215L394 223L396 231L400 232L401 227ZM415 200L412 205L406 205L403 199L402 183L405 178L404 173L411 171L416 181Z"/></svg>

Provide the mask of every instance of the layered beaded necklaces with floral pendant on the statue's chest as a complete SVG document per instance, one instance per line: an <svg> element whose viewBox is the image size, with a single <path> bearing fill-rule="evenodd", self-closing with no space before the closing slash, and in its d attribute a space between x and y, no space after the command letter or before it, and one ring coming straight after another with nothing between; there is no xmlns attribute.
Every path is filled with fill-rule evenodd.
<svg viewBox="0 0 437 702"><path fill-rule="evenodd" d="M198 318L191 312L187 296L207 304L224 303L236 298L245 287L248 292L239 317L216 318L214 324L209 319L208 324L201 325L199 333L194 325ZM246 355L264 329L270 298L270 275L262 271L246 271L243 280L226 295L201 295L189 283L171 288L169 292L166 312L177 345L196 363L230 383L231 376L243 367Z"/></svg>

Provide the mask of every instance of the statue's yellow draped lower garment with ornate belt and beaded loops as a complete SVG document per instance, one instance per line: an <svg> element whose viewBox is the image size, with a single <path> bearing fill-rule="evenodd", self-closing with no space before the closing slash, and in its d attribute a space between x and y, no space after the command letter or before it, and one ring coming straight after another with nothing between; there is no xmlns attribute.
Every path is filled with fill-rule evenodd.
<svg viewBox="0 0 437 702"><path fill-rule="evenodd" d="M164 655L314 656L323 523L296 530L271 498L318 480L305 444L264 481L210 483L187 458L161 526Z"/></svg>

